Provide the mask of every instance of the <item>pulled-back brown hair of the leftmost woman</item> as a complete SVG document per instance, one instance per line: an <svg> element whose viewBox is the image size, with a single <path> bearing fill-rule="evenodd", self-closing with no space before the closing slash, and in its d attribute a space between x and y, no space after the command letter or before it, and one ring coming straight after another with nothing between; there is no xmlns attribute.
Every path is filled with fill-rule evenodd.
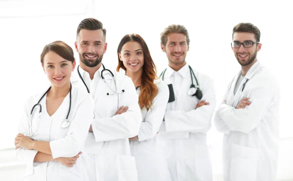
<svg viewBox="0 0 293 181"><path fill-rule="evenodd" d="M71 61L72 63L74 62L74 53L72 48L63 41L54 41L52 43L47 44L43 48L43 51L41 54L42 64L44 62L45 55L51 51L57 53L60 57L62 57L65 60Z"/></svg>

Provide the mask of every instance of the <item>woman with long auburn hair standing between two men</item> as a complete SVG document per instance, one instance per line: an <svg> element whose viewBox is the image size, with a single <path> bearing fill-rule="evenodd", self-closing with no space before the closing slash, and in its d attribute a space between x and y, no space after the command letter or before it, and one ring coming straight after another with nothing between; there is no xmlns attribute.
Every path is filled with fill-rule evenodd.
<svg viewBox="0 0 293 181"><path fill-rule="evenodd" d="M137 163L138 180L170 181L167 161L157 135L169 99L168 86L157 78L156 66L141 36L124 36L117 54L117 71L125 70L126 76L132 79L143 117L139 134L129 138L131 155Z"/></svg>

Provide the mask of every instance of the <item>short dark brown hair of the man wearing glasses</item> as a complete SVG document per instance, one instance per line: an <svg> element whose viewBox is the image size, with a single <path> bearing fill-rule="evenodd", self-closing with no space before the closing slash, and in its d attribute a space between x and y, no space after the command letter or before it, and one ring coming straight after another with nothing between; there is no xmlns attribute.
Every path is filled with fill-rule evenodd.
<svg viewBox="0 0 293 181"><path fill-rule="evenodd" d="M233 35L235 32L253 33L255 40L257 42L260 41L259 29L249 22L246 22L246 23L241 22L241 23L237 24L236 26L234 26L233 33L232 33L232 39L233 39Z"/></svg>

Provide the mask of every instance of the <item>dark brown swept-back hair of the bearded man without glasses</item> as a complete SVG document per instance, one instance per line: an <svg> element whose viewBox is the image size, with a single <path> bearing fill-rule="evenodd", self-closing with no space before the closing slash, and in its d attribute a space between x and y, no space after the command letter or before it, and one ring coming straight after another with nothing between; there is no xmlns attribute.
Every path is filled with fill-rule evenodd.
<svg viewBox="0 0 293 181"><path fill-rule="evenodd" d="M87 18L87 19L82 20L77 27L76 37L79 35L79 33L82 29L103 30L104 38L106 39L106 29L103 28L103 23L97 19Z"/></svg>

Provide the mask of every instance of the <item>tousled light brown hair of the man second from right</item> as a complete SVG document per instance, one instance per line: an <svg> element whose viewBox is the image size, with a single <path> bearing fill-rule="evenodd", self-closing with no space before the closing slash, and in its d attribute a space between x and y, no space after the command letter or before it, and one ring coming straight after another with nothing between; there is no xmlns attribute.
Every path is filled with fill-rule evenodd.
<svg viewBox="0 0 293 181"><path fill-rule="evenodd" d="M189 46L189 35L187 29L184 27L184 25L179 24L171 24L165 30L161 33L161 44L166 46L167 43L167 36L170 33L182 33L186 36L187 45Z"/></svg>

